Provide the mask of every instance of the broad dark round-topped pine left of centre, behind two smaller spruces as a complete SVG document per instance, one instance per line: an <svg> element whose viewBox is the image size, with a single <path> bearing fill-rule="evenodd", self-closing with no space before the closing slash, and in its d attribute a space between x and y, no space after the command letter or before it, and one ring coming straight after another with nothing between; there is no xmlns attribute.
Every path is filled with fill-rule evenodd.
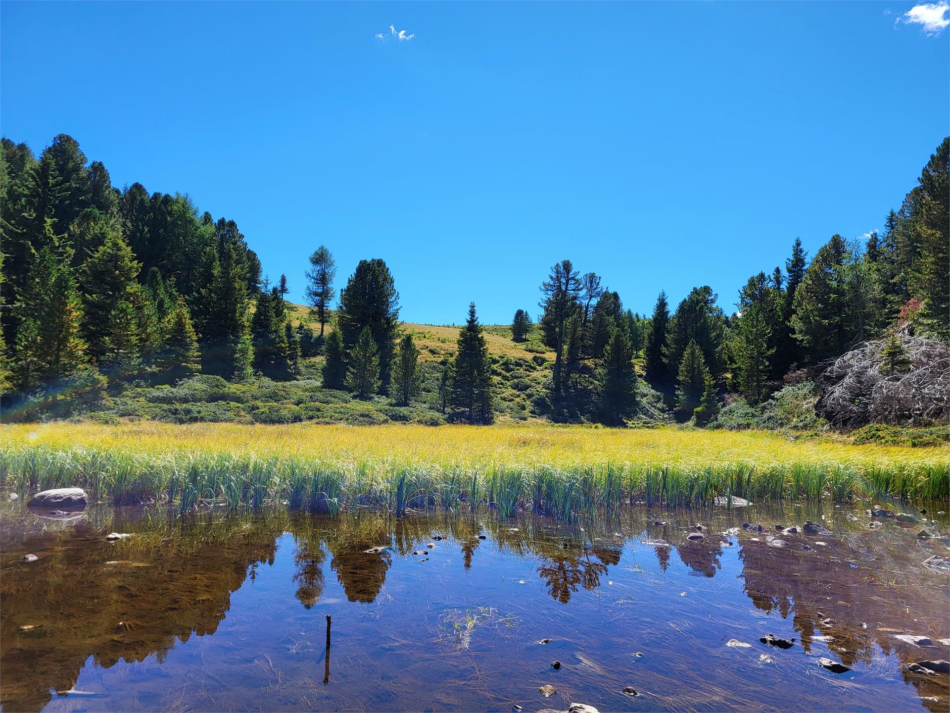
<svg viewBox="0 0 950 713"><path fill-rule="evenodd" d="M337 326L343 346L351 350L370 328L379 352L378 383L384 393L389 391L393 340L399 319L399 293L383 260L360 260L356 271L340 293Z"/></svg>

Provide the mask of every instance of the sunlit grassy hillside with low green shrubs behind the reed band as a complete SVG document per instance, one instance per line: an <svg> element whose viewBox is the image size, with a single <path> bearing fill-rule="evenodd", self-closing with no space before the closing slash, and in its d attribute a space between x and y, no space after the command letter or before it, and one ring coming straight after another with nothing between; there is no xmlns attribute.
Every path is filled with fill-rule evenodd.
<svg viewBox="0 0 950 713"><path fill-rule="evenodd" d="M309 308L288 304L292 322L303 322L319 332ZM329 325L327 330L332 329ZM460 327L400 325L420 350L422 390L409 406L395 406L385 396L360 400L347 392L324 389L321 368L324 357L305 357L302 378L274 381L257 378L250 383L231 383L219 376L196 376L174 386L152 386L145 380L111 386L106 394L73 411L104 423L154 419L172 423L344 423L348 425L415 422L440 425L445 422L438 397L439 380L454 357ZM495 378L495 408L500 422L538 420L545 403L544 383L550 378L554 353L539 340L537 327L529 338L515 342L508 326L485 327L485 340Z"/></svg>

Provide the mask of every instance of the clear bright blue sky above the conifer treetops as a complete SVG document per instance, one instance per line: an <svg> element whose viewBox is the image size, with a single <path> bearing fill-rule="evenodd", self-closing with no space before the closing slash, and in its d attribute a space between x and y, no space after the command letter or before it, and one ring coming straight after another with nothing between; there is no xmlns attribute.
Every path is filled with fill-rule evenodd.
<svg viewBox="0 0 950 713"><path fill-rule="evenodd" d="M409 321L537 314L562 258L731 312L796 236L881 227L950 132L950 10L913 8L3 2L0 129L190 193L292 299L324 243Z"/></svg>

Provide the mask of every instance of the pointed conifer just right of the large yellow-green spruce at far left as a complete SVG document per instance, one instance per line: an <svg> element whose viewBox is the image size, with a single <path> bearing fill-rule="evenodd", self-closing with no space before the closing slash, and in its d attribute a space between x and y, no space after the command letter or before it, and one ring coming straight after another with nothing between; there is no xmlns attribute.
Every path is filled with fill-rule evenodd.
<svg viewBox="0 0 950 713"><path fill-rule="evenodd" d="M128 243L113 233L80 270L85 339L89 354L104 363L129 363L139 356L132 307L138 299L139 268Z"/></svg>

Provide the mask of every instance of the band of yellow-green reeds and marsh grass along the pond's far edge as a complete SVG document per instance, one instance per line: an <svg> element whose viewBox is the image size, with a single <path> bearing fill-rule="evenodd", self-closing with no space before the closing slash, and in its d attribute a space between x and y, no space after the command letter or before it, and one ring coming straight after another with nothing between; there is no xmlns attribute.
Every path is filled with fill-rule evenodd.
<svg viewBox="0 0 950 713"><path fill-rule="evenodd" d="M402 515L486 505L502 518L528 509L567 520L637 502L702 507L716 497L724 505L731 498L942 499L950 453L672 427L61 423L0 432L0 486L73 485L97 501L180 511L282 503Z"/></svg>

